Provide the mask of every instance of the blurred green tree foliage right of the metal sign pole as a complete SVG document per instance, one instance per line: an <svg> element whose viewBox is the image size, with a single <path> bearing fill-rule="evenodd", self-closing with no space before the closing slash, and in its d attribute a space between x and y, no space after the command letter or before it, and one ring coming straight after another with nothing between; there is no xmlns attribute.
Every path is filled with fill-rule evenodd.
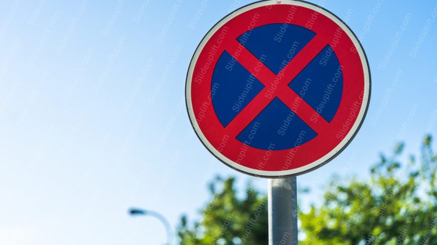
<svg viewBox="0 0 437 245"><path fill-rule="evenodd" d="M437 156L426 136L421 159L396 144L391 156L381 155L368 181L335 178L324 204L300 213L302 244L437 244ZM346 183L343 183L346 182Z"/></svg>

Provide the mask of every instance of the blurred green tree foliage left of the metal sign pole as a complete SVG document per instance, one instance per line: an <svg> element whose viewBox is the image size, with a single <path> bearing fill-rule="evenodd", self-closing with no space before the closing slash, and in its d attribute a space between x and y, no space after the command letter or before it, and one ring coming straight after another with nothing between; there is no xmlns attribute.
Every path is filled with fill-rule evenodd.
<svg viewBox="0 0 437 245"><path fill-rule="evenodd" d="M202 210L202 221L188 227L182 216L178 236L184 245L211 244L267 244L268 220L267 198L251 184L246 187L246 196L238 198L235 179L217 177L210 185L212 201ZM216 189L220 188L220 191Z"/></svg>

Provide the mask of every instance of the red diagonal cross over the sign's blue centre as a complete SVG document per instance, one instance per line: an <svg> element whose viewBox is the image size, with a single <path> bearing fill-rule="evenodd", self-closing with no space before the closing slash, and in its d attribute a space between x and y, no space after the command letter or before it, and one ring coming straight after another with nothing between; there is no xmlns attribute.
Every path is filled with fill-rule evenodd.
<svg viewBox="0 0 437 245"><path fill-rule="evenodd" d="M306 103L296 92L287 85L301 72L314 57L327 45L326 39L322 35L316 35L297 55L282 69L278 75L274 74L249 50L243 47L237 40L232 40L227 44L227 51L244 68L254 75L265 87L246 107L226 126L228 135L236 137L258 116L264 108L275 98L278 97L295 114L297 114L309 127L316 133L323 132L329 127L329 123L324 120L308 103ZM258 66L256 71L255 68ZM255 75L257 74L257 75ZM282 75L279 75L282 74ZM279 83L270 98L266 97L271 84L277 79ZM269 92L270 93L270 92ZM317 116L314 122L311 116Z"/></svg>

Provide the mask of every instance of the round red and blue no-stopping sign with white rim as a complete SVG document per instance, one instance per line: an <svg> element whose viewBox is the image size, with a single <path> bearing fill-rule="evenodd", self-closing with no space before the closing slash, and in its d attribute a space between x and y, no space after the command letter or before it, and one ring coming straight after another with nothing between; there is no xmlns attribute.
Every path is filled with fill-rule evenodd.
<svg viewBox="0 0 437 245"><path fill-rule="evenodd" d="M338 17L262 1L218 22L191 60L189 118L218 159L247 174L295 176L336 157L370 98L362 46Z"/></svg>

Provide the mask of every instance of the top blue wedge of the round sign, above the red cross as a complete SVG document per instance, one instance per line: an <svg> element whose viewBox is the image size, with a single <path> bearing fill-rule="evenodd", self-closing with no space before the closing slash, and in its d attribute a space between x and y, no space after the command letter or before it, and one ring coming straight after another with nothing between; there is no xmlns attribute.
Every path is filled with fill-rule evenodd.
<svg viewBox="0 0 437 245"><path fill-rule="evenodd" d="M314 36L306 28L279 23L257 27L237 40L278 74Z"/></svg>

